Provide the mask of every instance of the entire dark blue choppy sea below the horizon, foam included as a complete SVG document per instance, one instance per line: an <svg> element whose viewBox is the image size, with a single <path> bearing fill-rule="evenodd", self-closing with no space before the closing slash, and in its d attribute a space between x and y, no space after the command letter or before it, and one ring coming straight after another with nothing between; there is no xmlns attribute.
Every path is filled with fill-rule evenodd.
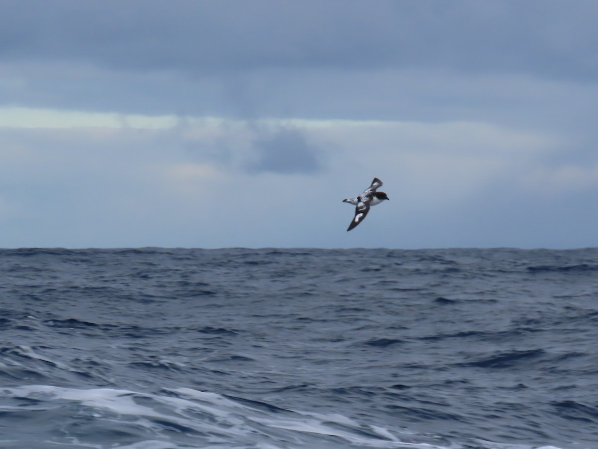
<svg viewBox="0 0 598 449"><path fill-rule="evenodd" d="M598 448L598 249L0 251L0 447Z"/></svg>

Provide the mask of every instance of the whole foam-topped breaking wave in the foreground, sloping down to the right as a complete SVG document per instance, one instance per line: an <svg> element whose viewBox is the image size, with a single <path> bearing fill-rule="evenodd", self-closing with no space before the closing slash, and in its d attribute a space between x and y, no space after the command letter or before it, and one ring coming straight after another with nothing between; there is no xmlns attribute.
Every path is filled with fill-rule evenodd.
<svg viewBox="0 0 598 449"><path fill-rule="evenodd" d="M46 421L46 439L34 447L448 449L401 441L385 427L340 414L292 411L188 388L160 394L47 385L1 391L3 423L13 432L33 436L32 422ZM14 446L4 440L2 447L17 444L28 447L26 438Z"/></svg>

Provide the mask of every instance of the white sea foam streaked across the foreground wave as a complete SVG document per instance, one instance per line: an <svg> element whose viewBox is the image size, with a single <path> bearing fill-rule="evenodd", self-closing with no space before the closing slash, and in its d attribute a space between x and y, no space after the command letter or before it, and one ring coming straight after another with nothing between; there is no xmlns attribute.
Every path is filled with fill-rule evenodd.
<svg viewBox="0 0 598 449"><path fill-rule="evenodd" d="M164 390L164 395L152 395L109 388L81 390L34 385L5 388L2 389L2 393L14 398L35 399L38 401L38 408L40 403L50 409L56 406L55 402L69 401L84 406L88 420L125 424L132 429L142 429L144 433L154 435L152 439L111 446L120 449L196 447L188 445L184 438L178 441L177 437L184 436L185 433L199 435L196 439L201 441L201 444L197 447L202 448L208 448L210 445L222 447L222 444L228 444L228 447L262 449L305 445L315 448L321 445L322 448L445 449L425 443L402 442L388 429L361 424L340 414L285 411L282 417L278 417L280 412L264 411L216 393L188 388ZM4 406L2 409L10 411L15 407ZM81 414L81 409L78 410L78 414ZM283 433L280 433L281 430ZM294 443L288 445L288 441ZM60 441L47 443L102 447L81 441L81 436L66 436Z"/></svg>

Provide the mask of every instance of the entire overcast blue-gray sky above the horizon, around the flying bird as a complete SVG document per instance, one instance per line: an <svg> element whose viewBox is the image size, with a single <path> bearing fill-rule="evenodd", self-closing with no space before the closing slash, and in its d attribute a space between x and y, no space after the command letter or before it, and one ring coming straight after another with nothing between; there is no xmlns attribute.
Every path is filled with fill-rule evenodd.
<svg viewBox="0 0 598 449"><path fill-rule="evenodd" d="M3 0L0 247L597 246L597 17Z"/></svg>

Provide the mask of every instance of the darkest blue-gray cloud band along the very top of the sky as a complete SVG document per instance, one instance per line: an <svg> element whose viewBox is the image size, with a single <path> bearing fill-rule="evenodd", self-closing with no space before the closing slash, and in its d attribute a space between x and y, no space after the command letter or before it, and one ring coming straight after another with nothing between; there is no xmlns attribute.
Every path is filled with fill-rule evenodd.
<svg viewBox="0 0 598 449"><path fill-rule="evenodd" d="M2 2L0 54L204 76L263 68L448 68L594 81L579 0Z"/></svg>

